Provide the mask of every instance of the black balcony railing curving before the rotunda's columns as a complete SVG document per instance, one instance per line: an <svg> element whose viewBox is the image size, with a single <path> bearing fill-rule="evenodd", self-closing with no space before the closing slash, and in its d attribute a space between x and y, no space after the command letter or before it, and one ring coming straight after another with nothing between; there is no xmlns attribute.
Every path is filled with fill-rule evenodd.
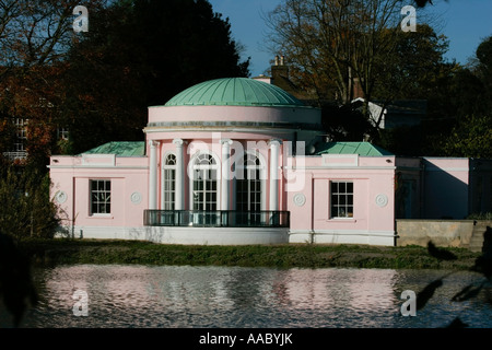
<svg viewBox="0 0 492 350"><path fill-rule="evenodd" d="M289 228L289 211L144 210L145 226Z"/></svg>

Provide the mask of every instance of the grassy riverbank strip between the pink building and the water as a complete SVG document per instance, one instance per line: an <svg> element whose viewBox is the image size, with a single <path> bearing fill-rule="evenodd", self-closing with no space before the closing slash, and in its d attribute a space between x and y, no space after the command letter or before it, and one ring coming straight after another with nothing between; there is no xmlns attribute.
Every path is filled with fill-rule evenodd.
<svg viewBox="0 0 492 350"><path fill-rule="evenodd" d="M456 260L442 261L420 246L247 245L186 246L142 241L30 240L19 244L35 266L74 264L215 265L276 268L455 269L473 266L478 253L446 248Z"/></svg>

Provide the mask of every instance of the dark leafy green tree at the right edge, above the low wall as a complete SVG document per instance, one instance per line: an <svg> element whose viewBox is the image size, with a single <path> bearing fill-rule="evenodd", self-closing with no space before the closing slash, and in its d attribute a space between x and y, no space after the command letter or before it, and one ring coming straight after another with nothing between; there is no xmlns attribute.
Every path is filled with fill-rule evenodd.
<svg viewBox="0 0 492 350"><path fill-rule="evenodd" d="M455 65L430 93L424 120L425 154L491 158L492 37L480 43L466 67ZM432 102L432 103L431 103Z"/></svg>

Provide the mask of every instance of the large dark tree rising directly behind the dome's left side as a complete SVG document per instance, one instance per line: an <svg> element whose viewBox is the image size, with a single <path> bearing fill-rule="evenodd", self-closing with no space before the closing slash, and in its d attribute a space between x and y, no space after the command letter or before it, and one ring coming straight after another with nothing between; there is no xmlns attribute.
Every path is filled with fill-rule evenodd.
<svg viewBox="0 0 492 350"><path fill-rule="evenodd" d="M121 0L91 12L65 75L71 151L141 140L149 106L204 80L248 75L239 48L207 0Z"/></svg>

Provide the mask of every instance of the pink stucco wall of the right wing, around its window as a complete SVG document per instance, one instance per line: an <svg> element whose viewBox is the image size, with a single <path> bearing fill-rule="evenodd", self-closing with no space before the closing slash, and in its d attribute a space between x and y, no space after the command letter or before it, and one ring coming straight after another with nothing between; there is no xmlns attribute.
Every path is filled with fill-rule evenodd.
<svg viewBox="0 0 492 350"><path fill-rule="evenodd" d="M307 156L304 163L304 185L288 192L293 232L391 235L395 230L394 156ZM296 171L297 177L302 177L300 168ZM353 218L330 217L332 180L353 183ZM300 206L301 195L305 202Z"/></svg>

